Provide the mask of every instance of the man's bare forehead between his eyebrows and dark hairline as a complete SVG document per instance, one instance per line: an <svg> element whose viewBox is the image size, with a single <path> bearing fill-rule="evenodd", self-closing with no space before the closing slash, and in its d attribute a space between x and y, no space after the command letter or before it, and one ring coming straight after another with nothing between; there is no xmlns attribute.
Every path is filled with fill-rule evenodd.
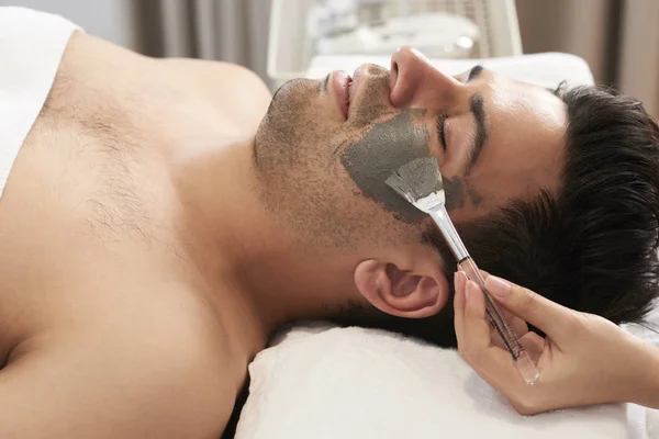
<svg viewBox="0 0 659 439"><path fill-rule="evenodd" d="M533 196L540 188L556 193L567 124L560 98L496 75L488 76L478 92L483 97L489 135L467 181L482 201L472 205L472 211L482 212L471 214Z"/></svg>

